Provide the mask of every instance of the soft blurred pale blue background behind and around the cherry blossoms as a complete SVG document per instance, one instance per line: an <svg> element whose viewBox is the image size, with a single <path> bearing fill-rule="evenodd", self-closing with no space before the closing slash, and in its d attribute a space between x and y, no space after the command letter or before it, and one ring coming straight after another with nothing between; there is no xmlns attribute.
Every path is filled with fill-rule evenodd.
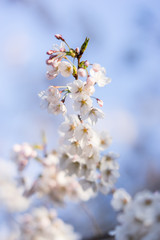
<svg viewBox="0 0 160 240"><path fill-rule="evenodd" d="M73 48L87 36L84 57L100 63L112 78L111 84L96 89L105 112L97 129L109 131L109 150L120 154L117 186L132 195L159 190L160 2L0 0L0 29L0 157L9 159L15 143L39 143L42 130L49 148L57 147L62 118L40 108L38 93L50 84L63 85L64 79L46 80L46 51L59 44L56 33ZM99 195L87 203L102 231L115 225L109 202ZM76 204L59 209L59 215L76 231L94 234Z"/></svg>

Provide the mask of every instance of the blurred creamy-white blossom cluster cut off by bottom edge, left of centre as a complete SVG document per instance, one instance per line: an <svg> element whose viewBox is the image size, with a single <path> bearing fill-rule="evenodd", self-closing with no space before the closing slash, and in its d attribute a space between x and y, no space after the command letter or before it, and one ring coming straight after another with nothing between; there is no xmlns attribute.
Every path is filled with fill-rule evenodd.
<svg viewBox="0 0 160 240"><path fill-rule="evenodd" d="M73 227L57 217L53 209L34 208L18 218L19 230L10 234L7 240L79 240Z"/></svg>

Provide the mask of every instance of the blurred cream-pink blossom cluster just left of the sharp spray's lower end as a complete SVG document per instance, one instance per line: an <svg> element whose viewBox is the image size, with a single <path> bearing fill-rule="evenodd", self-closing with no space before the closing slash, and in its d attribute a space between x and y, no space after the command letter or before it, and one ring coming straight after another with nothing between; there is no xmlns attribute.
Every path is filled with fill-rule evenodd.
<svg viewBox="0 0 160 240"><path fill-rule="evenodd" d="M84 192L74 177L67 176L56 165L43 167L43 172L34 184L34 190L39 196L47 196L51 202L58 205L64 204L66 199L85 201L93 196L92 191Z"/></svg>

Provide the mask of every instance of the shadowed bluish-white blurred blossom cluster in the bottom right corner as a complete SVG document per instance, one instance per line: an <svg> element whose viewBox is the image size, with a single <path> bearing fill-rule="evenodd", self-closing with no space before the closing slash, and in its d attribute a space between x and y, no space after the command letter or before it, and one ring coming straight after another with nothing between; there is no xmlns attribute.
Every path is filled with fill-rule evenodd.
<svg viewBox="0 0 160 240"><path fill-rule="evenodd" d="M123 196L128 198L128 194ZM159 240L160 193L137 193L118 215L118 221L116 240Z"/></svg>

